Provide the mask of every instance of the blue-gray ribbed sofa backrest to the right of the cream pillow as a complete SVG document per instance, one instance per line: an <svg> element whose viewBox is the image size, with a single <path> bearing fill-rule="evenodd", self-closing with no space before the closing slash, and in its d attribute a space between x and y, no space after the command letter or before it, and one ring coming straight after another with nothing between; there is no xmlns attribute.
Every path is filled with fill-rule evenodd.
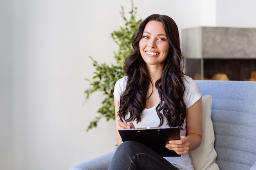
<svg viewBox="0 0 256 170"><path fill-rule="evenodd" d="M197 80L212 96L211 120L220 170L256 170L256 82Z"/></svg>

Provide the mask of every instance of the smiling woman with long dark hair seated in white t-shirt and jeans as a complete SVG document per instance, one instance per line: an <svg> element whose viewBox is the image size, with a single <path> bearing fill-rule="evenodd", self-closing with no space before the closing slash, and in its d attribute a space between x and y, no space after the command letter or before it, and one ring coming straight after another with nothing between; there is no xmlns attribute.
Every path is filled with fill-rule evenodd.
<svg viewBox="0 0 256 170"><path fill-rule="evenodd" d="M202 139L202 95L182 72L177 25L166 15L150 15L139 26L132 46L134 52L124 64L126 76L115 85L119 146L114 156L108 157L108 170L193 170L188 152L198 148ZM180 140L166 144L181 157L162 157L143 144L123 142L118 132L156 126L181 127Z"/></svg>

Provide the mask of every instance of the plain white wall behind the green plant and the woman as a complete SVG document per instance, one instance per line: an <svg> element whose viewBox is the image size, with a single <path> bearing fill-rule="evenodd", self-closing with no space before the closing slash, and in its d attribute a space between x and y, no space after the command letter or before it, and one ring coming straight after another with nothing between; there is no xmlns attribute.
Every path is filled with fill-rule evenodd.
<svg viewBox="0 0 256 170"><path fill-rule="evenodd" d="M137 18L166 14L180 30L256 27L256 2L243 2L134 0ZM68 169L115 148L114 121L85 132L103 97L84 102L83 91L89 56L115 62L110 33L124 24L121 6L128 13L130 0L0 1L0 169Z"/></svg>

